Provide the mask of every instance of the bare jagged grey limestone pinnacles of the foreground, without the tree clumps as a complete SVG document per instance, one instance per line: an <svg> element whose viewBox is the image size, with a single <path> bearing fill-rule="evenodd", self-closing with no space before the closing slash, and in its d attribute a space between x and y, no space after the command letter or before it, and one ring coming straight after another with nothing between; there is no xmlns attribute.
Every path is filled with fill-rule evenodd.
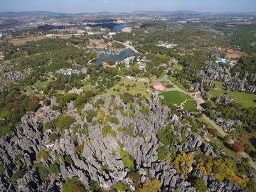
<svg viewBox="0 0 256 192"><path fill-rule="evenodd" d="M100 99L95 98L94 104ZM148 106L149 110L142 112L144 106ZM192 149L200 148L203 154L216 156L212 146L191 132L189 124L181 121L181 117L190 116L188 112L169 114L169 108L160 105L158 95L154 94L151 100L138 101L134 98L134 104L125 104L118 95L107 97L101 106L86 104L81 114L70 102L66 113L75 118L75 123L83 125L89 110L100 109L104 112L103 116L117 120L93 123L99 121L98 114L93 117L92 123L87 123L86 133L65 129L62 137L56 140L50 140L50 130L42 132L42 124L56 119L59 112L49 106L43 107L41 113L25 115L11 136L0 139L0 165L5 168L0 176L0 191L60 191L65 179L74 176L85 186L98 181L100 187L107 190L122 182L134 191L134 182L127 176L132 169L139 172L142 183L148 178L157 178L163 190L196 191L182 174L177 173L170 161L159 160L157 152L163 144L156 135L160 129L171 124L171 127L176 127L173 134L177 138L169 146L173 154L180 154L181 151L193 154L196 152ZM36 158L42 149L48 151L47 159ZM15 163L18 155L21 155L22 168ZM71 163L64 160L66 156L70 156ZM46 169L58 162L60 173L48 174L42 180L34 166L37 162L41 162ZM13 185L9 178L18 169L22 169L24 175ZM218 182L213 176L203 175L193 165L189 167L189 172L203 178L209 191L244 191L231 181Z"/></svg>

